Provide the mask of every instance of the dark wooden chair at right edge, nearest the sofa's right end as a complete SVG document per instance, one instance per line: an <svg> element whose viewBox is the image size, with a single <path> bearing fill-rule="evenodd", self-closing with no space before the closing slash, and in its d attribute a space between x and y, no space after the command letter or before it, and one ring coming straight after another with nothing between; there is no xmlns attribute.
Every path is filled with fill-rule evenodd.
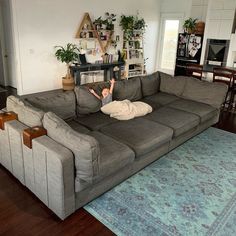
<svg viewBox="0 0 236 236"><path fill-rule="evenodd" d="M223 103L223 108L228 105L227 110L230 110L233 106L233 88L235 87L234 73L235 72L233 70L224 67L213 68L213 82L220 82L228 85L228 91L225 97L225 101Z"/></svg>

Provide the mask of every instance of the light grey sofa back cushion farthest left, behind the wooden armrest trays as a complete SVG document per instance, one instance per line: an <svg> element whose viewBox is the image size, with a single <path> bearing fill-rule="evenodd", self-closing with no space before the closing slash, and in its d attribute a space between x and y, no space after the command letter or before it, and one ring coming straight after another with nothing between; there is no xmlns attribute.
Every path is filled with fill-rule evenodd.
<svg viewBox="0 0 236 236"><path fill-rule="evenodd" d="M18 97L7 98L7 111L15 112L19 121L29 127L42 126L44 112Z"/></svg>

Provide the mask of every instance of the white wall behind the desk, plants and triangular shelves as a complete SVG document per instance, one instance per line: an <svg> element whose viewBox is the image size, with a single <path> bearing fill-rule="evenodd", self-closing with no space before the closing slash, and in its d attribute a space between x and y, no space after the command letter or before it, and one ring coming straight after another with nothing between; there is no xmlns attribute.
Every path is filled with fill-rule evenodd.
<svg viewBox="0 0 236 236"><path fill-rule="evenodd" d="M11 0L11 4L20 95L61 87L65 66L56 60L53 47L78 43L75 34L85 12L96 18L106 11L120 15L139 10L148 24L147 71L155 70L159 0Z"/></svg>

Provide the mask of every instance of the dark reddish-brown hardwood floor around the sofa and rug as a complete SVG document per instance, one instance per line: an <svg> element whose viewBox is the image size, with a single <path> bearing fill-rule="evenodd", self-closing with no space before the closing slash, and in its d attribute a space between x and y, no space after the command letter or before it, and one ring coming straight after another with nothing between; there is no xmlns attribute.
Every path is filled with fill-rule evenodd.
<svg viewBox="0 0 236 236"><path fill-rule="evenodd" d="M9 90L0 93L1 108L5 107ZM236 114L222 113L215 127L236 133ZM65 221L59 220L41 201L0 165L0 235L114 235L84 209Z"/></svg>

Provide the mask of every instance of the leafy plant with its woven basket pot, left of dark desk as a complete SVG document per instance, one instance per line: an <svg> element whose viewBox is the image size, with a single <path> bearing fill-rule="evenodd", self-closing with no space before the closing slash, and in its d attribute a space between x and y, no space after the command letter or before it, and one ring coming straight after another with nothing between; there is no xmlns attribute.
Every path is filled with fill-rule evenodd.
<svg viewBox="0 0 236 236"><path fill-rule="evenodd" d="M55 46L57 48L55 56L58 61L66 63L67 73L66 76L62 78L63 90L73 90L75 87L75 82L70 74L70 64L73 61L77 61L79 58L79 48L72 43L68 43L65 47Z"/></svg>

